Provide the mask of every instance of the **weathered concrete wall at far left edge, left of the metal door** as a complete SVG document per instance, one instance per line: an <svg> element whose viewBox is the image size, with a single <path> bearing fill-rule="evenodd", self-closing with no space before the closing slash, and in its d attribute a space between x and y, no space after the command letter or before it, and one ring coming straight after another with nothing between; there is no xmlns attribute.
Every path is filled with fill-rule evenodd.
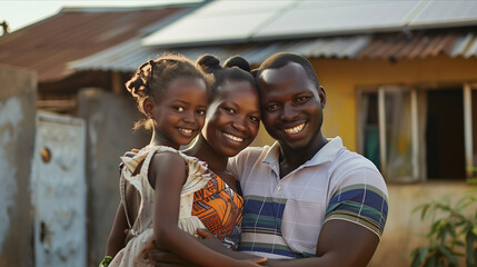
<svg viewBox="0 0 477 267"><path fill-rule="evenodd" d="M30 211L37 75L0 66L0 266L32 266Z"/></svg>

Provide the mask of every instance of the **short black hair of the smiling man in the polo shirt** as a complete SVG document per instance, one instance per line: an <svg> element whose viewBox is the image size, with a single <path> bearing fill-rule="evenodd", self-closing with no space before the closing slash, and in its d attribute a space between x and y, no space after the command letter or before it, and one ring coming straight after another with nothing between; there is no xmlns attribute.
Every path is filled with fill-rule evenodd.
<svg viewBox="0 0 477 267"><path fill-rule="evenodd" d="M260 78L261 73L265 70L279 69L289 62L295 62L304 67L308 78L311 80L311 82L314 82L314 85L316 86L316 89L318 90L319 81L318 81L318 76L315 72L314 66L308 59L296 53L279 52L270 56L258 68L257 79Z"/></svg>

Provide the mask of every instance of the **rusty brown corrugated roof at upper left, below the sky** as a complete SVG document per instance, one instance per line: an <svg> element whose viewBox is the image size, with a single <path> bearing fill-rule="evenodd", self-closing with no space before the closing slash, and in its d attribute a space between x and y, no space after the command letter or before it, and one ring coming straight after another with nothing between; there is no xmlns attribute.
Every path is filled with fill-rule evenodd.
<svg viewBox="0 0 477 267"><path fill-rule="evenodd" d="M73 72L67 62L143 37L193 6L197 3L62 9L53 17L0 37L0 63L37 70L40 82L59 80Z"/></svg>

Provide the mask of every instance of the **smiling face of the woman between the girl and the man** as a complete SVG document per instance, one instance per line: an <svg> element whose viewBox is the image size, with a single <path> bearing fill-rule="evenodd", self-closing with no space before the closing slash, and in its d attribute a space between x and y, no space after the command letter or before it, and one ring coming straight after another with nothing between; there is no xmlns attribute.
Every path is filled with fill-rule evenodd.
<svg viewBox="0 0 477 267"><path fill-rule="evenodd" d="M207 110L202 135L213 150L233 157L250 145L259 126L257 89L248 81L226 81Z"/></svg>

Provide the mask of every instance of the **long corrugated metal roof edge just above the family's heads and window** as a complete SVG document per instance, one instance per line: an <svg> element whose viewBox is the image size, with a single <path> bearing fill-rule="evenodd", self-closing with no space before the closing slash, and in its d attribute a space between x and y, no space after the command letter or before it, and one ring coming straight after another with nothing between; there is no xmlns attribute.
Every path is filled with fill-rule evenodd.
<svg viewBox="0 0 477 267"><path fill-rule="evenodd" d="M300 40L249 42L228 46L202 46L151 49L140 40L117 46L69 65L76 70L135 71L142 62L161 52L177 52L196 60L203 53L216 55L221 61L240 55L251 65L260 65L276 52L294 52L307 58L400 59L437 55L477 57L477 29L446 29L434 31L320 37Z"/></svg>

